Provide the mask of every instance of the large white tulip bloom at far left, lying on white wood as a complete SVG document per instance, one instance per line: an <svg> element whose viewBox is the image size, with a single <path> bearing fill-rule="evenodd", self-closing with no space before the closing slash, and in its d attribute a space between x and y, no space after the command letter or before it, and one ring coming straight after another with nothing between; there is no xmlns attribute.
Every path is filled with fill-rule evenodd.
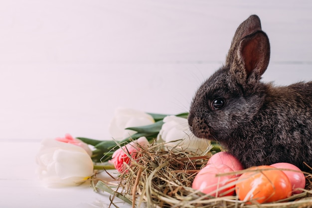
<svg viewBox="0 0 312 208"><path fill-rule="evenodd" d="M81 147L44 139L36 156L37 175L48 187L81 183L93 174L93 162Z"/></svg>

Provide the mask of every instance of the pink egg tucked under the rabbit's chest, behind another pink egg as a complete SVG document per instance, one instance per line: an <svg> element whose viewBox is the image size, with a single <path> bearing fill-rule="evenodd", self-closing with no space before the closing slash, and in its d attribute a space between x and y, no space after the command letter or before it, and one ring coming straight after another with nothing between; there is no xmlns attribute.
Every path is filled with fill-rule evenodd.
<svg viewBox="0 0 312 208"><path fill-rule="evenodd" d="M243 165L231 154L227 152L218 152L211 156L207 164L224 164L234 171L243 170Z"/></svg>

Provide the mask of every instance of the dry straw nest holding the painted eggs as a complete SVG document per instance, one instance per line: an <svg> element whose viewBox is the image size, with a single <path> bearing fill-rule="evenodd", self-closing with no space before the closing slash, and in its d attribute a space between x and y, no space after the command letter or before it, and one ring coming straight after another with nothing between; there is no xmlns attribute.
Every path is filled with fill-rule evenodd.
<svg viewBox="0 0 312 208"><path fill-rule="evenodd" d="M312 208L312 175L305 174L303 193L284 201L246 204L236 196L211 197L191 188L197 172L206 165L213 152L168 151L153 144L142 150L120 176L121 194L133 207L148 208Z"/></svg>

